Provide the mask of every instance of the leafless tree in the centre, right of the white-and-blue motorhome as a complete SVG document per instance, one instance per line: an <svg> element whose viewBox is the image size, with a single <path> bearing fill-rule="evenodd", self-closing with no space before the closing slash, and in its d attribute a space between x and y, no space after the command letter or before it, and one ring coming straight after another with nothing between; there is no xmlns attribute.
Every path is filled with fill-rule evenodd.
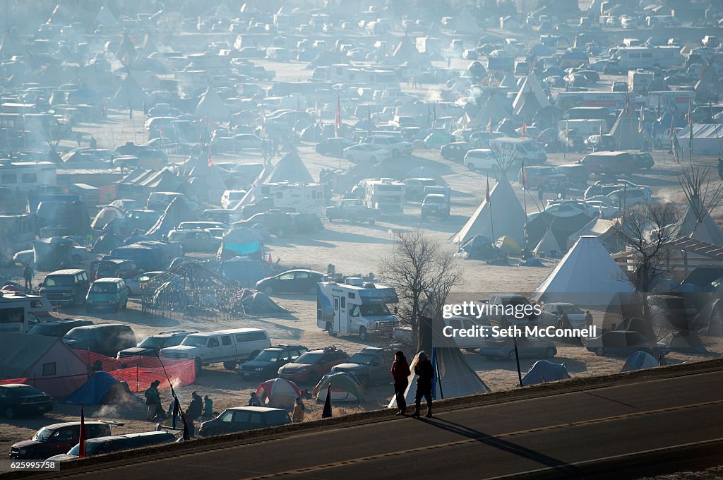
<svg viewBox="0 0 723 480"><path fill-rule="evenodd" d="M382 260L381 273L396 288L398 317L411 326L413 343L419 335L419 314L441 317L448 294L461 278L453 253L420 231L395 235L393 253Z"/></svg>

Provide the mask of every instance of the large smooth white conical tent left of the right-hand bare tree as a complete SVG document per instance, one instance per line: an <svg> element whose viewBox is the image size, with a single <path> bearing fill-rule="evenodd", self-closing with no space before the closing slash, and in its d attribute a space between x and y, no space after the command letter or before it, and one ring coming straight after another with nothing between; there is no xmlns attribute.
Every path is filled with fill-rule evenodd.
<svg viewBox="0 0 723 480"><path fill-rule="evenodd" d="M623 271L599 239L581 236L555 270L536 288L537 301L569 301L576 305L607 307L617 293L633 293Z"/></svg>

